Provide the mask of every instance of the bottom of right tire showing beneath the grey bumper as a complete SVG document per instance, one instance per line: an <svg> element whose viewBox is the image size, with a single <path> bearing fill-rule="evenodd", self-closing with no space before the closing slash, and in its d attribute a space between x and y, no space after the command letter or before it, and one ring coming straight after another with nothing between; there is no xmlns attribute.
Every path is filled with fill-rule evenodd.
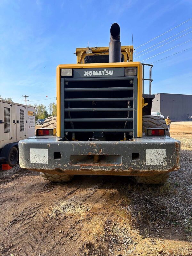
<svg viewBox="0 0 192 256"><path fill-rule="evenodd" d="M169 172L154 174L151 176L135 176L137 183L164 184L169 178Z"/></svg>

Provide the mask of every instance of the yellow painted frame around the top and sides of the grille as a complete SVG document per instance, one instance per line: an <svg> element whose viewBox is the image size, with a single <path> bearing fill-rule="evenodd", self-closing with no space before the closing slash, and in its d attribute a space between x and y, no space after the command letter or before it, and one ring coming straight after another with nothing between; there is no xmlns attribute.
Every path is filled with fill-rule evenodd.
<svg viewBox="0 0 192 256"><path fill-rule="evenodd" d="M104 47L103 47L104 48ZM138 95L137 95L137 137L142 137L142 105L143 105L143 69L140 62L91 63L91 64L63 64L57 66L57 136L61 136L61 68L120 68L137 67Z"/></svg>

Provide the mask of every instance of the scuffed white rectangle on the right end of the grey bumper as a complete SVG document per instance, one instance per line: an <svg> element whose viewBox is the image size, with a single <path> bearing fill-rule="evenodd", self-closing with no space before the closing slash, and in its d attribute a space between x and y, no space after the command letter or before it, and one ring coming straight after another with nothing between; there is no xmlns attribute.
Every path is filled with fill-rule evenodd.
<svg viewBox="0 0 192 256"><path fill-rule="evenodd" d="M166 163L166 149L146 149L146 165L163 165Z"/></svg>

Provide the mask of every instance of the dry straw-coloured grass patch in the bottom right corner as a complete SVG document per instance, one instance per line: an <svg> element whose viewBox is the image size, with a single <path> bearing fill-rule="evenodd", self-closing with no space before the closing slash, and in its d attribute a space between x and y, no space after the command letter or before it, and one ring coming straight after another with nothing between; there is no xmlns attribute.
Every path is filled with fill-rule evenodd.
<svg viewBox="0 0 192 256"><path fill-rule="evenodd" d="M156 252L157 256L191 256L192 247L182 247L180 244L176 245L161 245L161 248Z"/></svg>

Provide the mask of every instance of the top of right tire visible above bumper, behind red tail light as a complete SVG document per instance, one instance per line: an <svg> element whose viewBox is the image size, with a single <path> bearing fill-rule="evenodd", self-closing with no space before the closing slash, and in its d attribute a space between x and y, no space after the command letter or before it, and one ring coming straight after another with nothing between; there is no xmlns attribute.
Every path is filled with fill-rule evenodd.
<svg viewBox="0 0 192 256"><path fill-rule="evenodd" d="M166 135L170 137L168 126L163 117L143 116L143 132L145 132L145 128L164 128Z"/></svg>

